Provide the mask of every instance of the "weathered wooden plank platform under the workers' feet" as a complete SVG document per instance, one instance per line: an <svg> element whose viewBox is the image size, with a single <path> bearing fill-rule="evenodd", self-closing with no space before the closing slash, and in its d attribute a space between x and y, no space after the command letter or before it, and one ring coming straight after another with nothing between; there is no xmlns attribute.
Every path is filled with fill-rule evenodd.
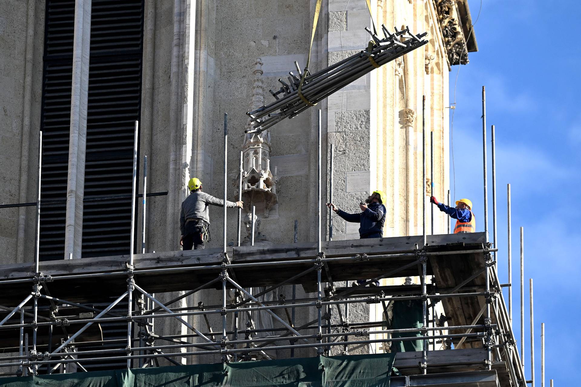
<svg viewBox="0 0 581 387"><path fill-rule="evenodd" d="M480 254L462 254L462 250L482 248L483 233L443 234L428 236L431 251L458 250L458 254L437 256L430 259L428 273L432 268L439 287L453 287L456 281L461 281L472 267L478 267L482 261ZM327 257L348 256L357 254L382 255L394 253L413 253L417 245L422 245L421 236L376 238L363 240L328 241L323 244ZM297 258L317 258L317 243L274 244L253 247L228 248L228 257L232 263L264 263L272 261L292 261ZM201 284L217 277L220 273L220 263L223 258L221 249L205 249L193 251L156 252L152 254L137 254L134 258L135 280L137 284L149 292L171 292L192 290ZM414 262L415 256L372 259L371 261L349 261L329 263L333 281L363 280L390 272L398 267ZM125 264L128 256L106 256L100 258L84 258L61 261L46 261L40 263L40 271L45 276L52 276L53 281L47 283L52 296L76 302L94 302L123 293L126 289ZM476 263L478 261L479 263ZM438 267L442 262L443 269ZM457 265L453 265L456 262ZM476 265L476 266L475 266ZM448 270L454 266L454 271ZM171 273L143 273L142 270L173 268ZM313 263L294 263L292 265L239 267L234 269L236 279L245 286L274 285L288 279L303 270L313 267ZM194 268L192 270L192 268ZM3 279L25 279L33 276L34 265L21 263L0 266L0 305L16 305L26 295L30 294L31 284L6 284ZM117 276L92 277L83 276L76 279L58 280L57 277L66 274L117 273ZM322 272L323 281L327 282L327 273ZM418 275L418 268L413 266L394 274L392 277ZM452 278L453 277L453 278ZM292 283L306 285L316 284L316 272L300 277ZM476 311L478 312L478 311Z"/></svg>

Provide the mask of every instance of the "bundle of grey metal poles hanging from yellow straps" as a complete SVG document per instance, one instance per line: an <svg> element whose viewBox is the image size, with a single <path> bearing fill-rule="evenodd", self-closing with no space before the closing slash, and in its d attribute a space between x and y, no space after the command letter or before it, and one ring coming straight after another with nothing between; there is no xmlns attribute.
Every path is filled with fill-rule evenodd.
<svg viewBox="0 0 581 387"><path fill-rule="evenodd" d="M427 32L414 35L409 27L401 31L397 31L396 28L392 34L382 25L383 39L380 39L369 28L365 30L372 37L367 49L314 74L310 74L305 68L307 75L302 84L303 73L300 71L299 64L295 62L298 74L290 71L288 82L278 79L282 84L281 88L277 92L270 91L276 100L267 106L246 113L253 123L252 129L246 133L261 133L286 117L296 117L356 79L371 73L374 68L381 67L428 43L427 40L422 39Z"/></svg>

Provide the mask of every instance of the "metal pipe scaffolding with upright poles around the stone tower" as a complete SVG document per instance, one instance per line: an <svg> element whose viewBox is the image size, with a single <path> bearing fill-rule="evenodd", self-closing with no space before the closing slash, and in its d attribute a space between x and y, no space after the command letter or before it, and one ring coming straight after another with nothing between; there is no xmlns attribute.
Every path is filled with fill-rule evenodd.
<svg viewBox="0 0 581 387"><path fill-rule="evenodd" d="M484 100L483 90L483 110ZM483 118L485 119L485 114ZM485 121L483 131L486 144ZM423 132L425 139L425 127ZM137 138L136 121L132 214L135 214L135 197L138 196ZM227 198L228 186L227 138L227 115L224 115L224 199ZM424 161L425 143L424 140ZM426 162L423 165L425 177ZM39 192L40 172L39 162ZM146 179L143 193L144 214L145 182ZM493 192L496 193L495 181L493 187ZM41 205L39 194L34 264L2 267L5 276L0 280L0 300L2 304L16 306L2 308L6 310L6 314L0 321L0 332L14 331L18 338L16 346L5 349L5 353L12 351L14 354L0 359L0 367L12 367L14 371L9 370L2 375L38 374L41 367L45 367L43 371L51 374L68 363L77 364L77 369L84 371L83 364L108 360L126 360L127 367L131 368L159 365L157 360L160 358L180 364L175 357L191 359L202 355L220 356L223 362L249 360L256 353L261 353L268 359L266 351L290 350L293 356L295 349L302 348L312 349L317 355L328 356L332 355L332 348L343 349L343 353L348 354L351 345L419 340L422 341L423 350L415 354L415 357L411 357L415 365L409 366L410 358L406 358L407 368L400 367L408 375L433 374L442 370L450 372L454 371L450 366L456 364L458 365L456 372L450 374L461 377L463 372L467 371L466 361L462 363L458 360L460 355L457 353L464 353L464 359L470 357L472 363L478 363L478 367L474 366L468 371L496 371L498 378L503 380L503 385L526 385L524 367L512 332L510 312L501 296L502 288L511 284L502 284L498 279L497 248L496 246L493 248L488 241L487 212L484 233L444 235L432 233L428 236L424 201L422 236L323 241L322 222L323 216L326 218L326 215L322 212L321 202L321 111L318 114L317 191L318 240L315 243L296 243L295 223L295 244L227 247L227 226L224 216L224 243L221 249L146 254L144 224L141 254L135 254L133 243L135 216L132 216L131 251L128 256L107 257L103 264L99 264L95 259L91 259L91 264L87 264L88 259L72 259L42 262L42 265L38 260ZM496 209L493 211L493 217L496 241ZM254 217L252 220L254 221ZM239 234L238 228L238 245ZM450 271L450 267L454 266L458 259L464 262L466 268L461 278L454 277L454 273ZM163 262L163 267L160 267L160 262ZM267 270L269 275L266 275ZM367 287L377 280L414 275L421 279L421 284L416 287L406 285ZM435 278L434 283L430 285L427 283L428 276ZM171 281L168 281L170 279ZM339 281L352 280L366 281L353 287L337 286ZM103 289L102 296L114 298L114 301L109 302L105 308L87 305L98 298L91 288L97 283ZM297 299L293 286L292 301L284 298L270 302L259 301L259 297L267 292L278 290L284 285L298 284L303 285L307 291L311 290L316 296ZM246 290L252 286L267 288L252 294ZM74 291L71 291L73 289ZM220 292L221 303L218 305L186 305L180 308L173 306L178 301L187 302L188 297L197 292L212 289ZM235 291L234 302L228 302L229 289ZM157 295L171 291L185 292L170 301L160 301ZM347 306L352 304L376 304L385 311L386 303L406 300L421 301L423 321L420 328L385 329L383 327L385 321L352 323L346 315ZM121 301L127 302L127 309L123 312L116 308ZM446 311L448 325L444 325L443 319L436 317L435 308L440 302ZM133 310L134 304L136 310ZM457 305L461 305L460 309L456 307ZM55 313L58 306L72 308L76 310L76 314L59 317L58 313ZM317 317L297 327L294 316L295 310L299 308L316 310ZM338 312L339 323L331 321L330 313L333 308ZM324 312L325 309L327 313ZM266 311L279 324L279 327L268 329L274 335L258 337L257 334L265 330L238 326L241 313L247 313L252 323L252 313L260 310ZM289 310L292 311L292 316L288 313ZM284 311L285 314L281 317L275 313L277 311ZM46 313L50 313L49 317L44 316ZM207 318L211 315L220 316L220 324L212 326ZM188 322L189 316L202 316L206 321L206 328L196 327ZM18 318L19 321L15 321ZM157 335L153 327L159 319L177 320L189 332ZM455 324L454 322L458 320L469 323ZM79 345L76 339L89 330L91 325L113 321L127 322L127 337L116 341L123 342L125 348L84 351L82 358L78 356L81 352L72 352L71 347ZM228 328L229 321L234 321L234 329ZM51 336L55 328L66 328L70 332L60 345L52 348ZM48 330L49 339L44 344L39 342L39 329ZM28 339L25 330L32 332L31 339ZM419 336L391 337L392 334L410 332L419 332ZM446 346L447 350L428 351L429 341L432 341L433 349L439 342ZM92 344L110 342L102 338L89 341ZM159 342L166 344L159 345ZM454 350L450 350L452 346ZM485 355L484 360L482 354ZM405 357L405 354L401 356ZM474 358L479 360L475 362ZM481 375L490 378L490 373L485 372Z"/></svg>

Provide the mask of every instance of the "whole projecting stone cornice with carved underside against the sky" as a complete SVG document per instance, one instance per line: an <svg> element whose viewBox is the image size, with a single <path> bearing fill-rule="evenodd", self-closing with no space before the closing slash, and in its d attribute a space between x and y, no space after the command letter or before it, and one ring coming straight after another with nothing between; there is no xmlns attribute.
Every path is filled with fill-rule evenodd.
<svg viewBox="0 0 581 387"><path fill-rule="evenodd" d="M478 50L467 0L432 1L450 64L467 64L468 52Z"/></svg>

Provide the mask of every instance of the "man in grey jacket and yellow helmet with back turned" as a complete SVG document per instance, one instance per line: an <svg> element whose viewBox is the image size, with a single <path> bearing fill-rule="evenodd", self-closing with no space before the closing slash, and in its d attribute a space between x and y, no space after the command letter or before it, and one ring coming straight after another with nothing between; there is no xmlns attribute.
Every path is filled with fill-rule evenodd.
<svg viewBox="0 0 581 387"><path fill-rule="evenodd" d="M210 215L208 205L224 207L224 201L202 192L202 182L198 178L189 179L190 195L182 202L180 214L180 245L184 250L202 249L210 241ZM242 208L242 201L226 201L226 207Z"/></svg>

